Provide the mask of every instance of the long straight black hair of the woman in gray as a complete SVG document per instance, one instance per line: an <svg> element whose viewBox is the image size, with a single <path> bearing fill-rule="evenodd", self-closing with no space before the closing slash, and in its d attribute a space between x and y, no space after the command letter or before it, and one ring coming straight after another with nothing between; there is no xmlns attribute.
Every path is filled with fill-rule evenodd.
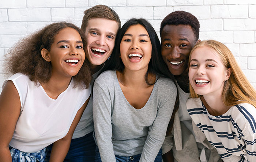
<svg viewBox="0 0 256 162"><path fill-rule="evenodd" d="M128 28L132 25L140 24L142 25L148 32L151 44L152 44L152 51L151 51L151 59L148 63L148 70L145 75L145 81L148 85L152 85L148 81L148 73L157 74L159 77L166 77L173 80L174 84L176 85L175 78L172 73L170 73L167 65L163 61L162 55L161 55L161 44L158 39L157 33L155 32L154 28L151 26L151 24L145 20L145 19L130 19L128 20L123 27L118 31L118 34L116 36L115 40L115 47L113 49L113 53L110 56L109 60L106 61L106 65L103 69L103 71L106 70L118 70L119 72L123 73L124 71L124 63L122 62L120 56L120 43L121 40L125 34L125 32L128 30ZM170 132L173 127L173 121L174 121L174 115L179 107L179 100L178 100L178 93L176 96L176 102L173 109L172 118L170 120L168 130L167 132Z"/></svg>

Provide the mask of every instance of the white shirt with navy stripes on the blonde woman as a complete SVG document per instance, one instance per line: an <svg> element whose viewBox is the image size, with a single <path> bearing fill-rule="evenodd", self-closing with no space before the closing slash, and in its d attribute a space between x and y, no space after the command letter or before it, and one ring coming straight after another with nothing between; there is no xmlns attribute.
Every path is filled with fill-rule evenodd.
<svg viewBox="0 0 256 162"><path fill-rule="evenodd" d="M192 120L217 148L223 161L256 162L256 108L253 105L234 105L219 116L210 115L199 98L188 99L186 105Z"/></svg>

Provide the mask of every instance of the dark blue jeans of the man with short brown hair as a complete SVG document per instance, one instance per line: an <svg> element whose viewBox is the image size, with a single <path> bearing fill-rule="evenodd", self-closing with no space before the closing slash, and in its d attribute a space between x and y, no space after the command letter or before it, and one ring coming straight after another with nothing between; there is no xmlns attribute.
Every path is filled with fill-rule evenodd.
<svg viewBox="0 0 256 162"><path fill-rule="evenodd" d="M94 162L95 147L93 132L83 137L72 139L64 162ZM46 152L50 153L52 144L46 149L48 150ZM50 154L48 153L46 159L49 161Z"/></svg>

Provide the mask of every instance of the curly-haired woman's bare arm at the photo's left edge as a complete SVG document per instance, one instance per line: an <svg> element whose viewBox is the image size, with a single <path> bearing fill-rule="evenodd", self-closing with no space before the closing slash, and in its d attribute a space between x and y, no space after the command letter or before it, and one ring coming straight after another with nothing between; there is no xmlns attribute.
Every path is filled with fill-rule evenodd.
<svg viewBox="0 0 256 162"><path fill-rule="evenodd" d="M20 115L20 108L19 93L13 82L8 80L0 95L0 162L12 162L9 143Z"/></svg>

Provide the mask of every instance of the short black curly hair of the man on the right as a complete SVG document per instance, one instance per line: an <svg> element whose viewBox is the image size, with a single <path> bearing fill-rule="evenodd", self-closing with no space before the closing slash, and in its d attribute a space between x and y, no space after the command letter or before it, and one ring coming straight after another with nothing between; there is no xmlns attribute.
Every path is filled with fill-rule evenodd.
<svg viewBox="0 0 256 162"><path fill-rule="evenodd" d="M163 31L163 27L166 25L189 25L191 26L196 40L199 39L199 28L200 24L197 18L189 12L186 11L174 11L167 15L160 26L160 36Z"/></svg>

